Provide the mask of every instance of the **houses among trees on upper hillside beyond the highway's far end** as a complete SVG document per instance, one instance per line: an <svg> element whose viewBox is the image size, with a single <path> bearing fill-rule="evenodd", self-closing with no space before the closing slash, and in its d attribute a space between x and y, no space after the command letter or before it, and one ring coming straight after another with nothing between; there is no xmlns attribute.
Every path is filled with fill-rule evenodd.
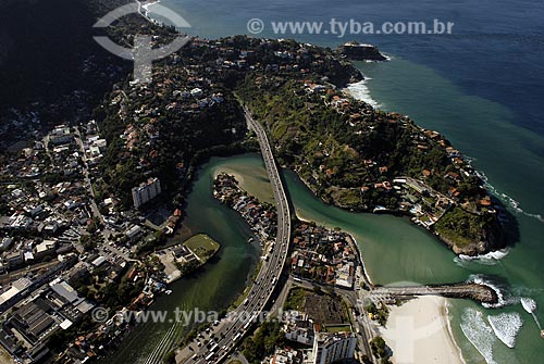
<svg viewBox="0 0 544 364"><path fill-rule="evenodd" d="M294 45L288 40L194 38L184 47L183 55L173 54L152 70L152 84L129 83L127 90L116 90L110 105L119 106L118 115L125 125L120 135L127 152L146 146L140 158L141 173L151 170L158 150L154 143L170 133L160 120L184 118L225 102L222 85L239 77L236 73L292 72L309 75L338 62L330 53L321 53L311 45ZM160 100L153 98L160 95ZM224 133L237 134L235 128Z"/></svg>

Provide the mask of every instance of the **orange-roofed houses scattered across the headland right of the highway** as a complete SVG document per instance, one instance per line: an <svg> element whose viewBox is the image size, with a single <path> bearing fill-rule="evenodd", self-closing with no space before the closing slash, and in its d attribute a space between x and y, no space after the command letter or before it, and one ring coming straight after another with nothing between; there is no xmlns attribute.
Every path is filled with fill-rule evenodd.
<svg viewBox="0 0 544 364"><path fill-rule="evenodd" d="M473 183L474 178L479 179L480 176L462 154L453 148L440 133L418 127L408 116L398 113L376 112L370 104L354 101L350 96L346 95L347 90L336 90L334 85L326 83L326 80L319 83L306 79L302 85L305 92L299 93L308 96L307 104L311 105L311 102L318 96L325 105L336 110L339 114L347 115L347 123L354 128L354 133L357 135L370 136L372 133L375 133L375 121L383 121L385 124L395 124L400 129L407 130L410 136L411 146L420 153L428 153L435 146L444 151L448 162L447 168L444 167L437 172L434 168L422 166L421 174L411 177L394 177L387 164L371 158L364 159L361 168L364 170L362 175L366 177L361 180L359 191L361 202L371 201L372 199L369 200L364 197L366 193L371 193L372 191L378 191L382 194L393 193L391 196L399 198L398 205L395 208L384 208L379 204L373 206L367 205L370 210L373 209L374 212L381 212L392 209L408 213L413 216L413 221L417 224L425 228L434 225L457 203L466 211L474 214L494 214L497 212L490 194L483 188L480 189L478 197L467 199L465 196L465 199L462 199L463 197L459 187L467 180ZM384 131L382 130L382 133ZM319 147L321 147L321 150L316 153L316 158L320 161L320 164L316 165L317 168L312 168L311 179L321 184L323 178L326 179L334 176L336 171L326 165L326 159L331 156L331 149L334 149L334 147L327 146L324 142L320 142ZM298 168L308 167L312 164L306 161ZM443 185L447 186L447 189L442 188L440 191L433 189L430 187L431 179L442 179L444 181Z"/></svg>

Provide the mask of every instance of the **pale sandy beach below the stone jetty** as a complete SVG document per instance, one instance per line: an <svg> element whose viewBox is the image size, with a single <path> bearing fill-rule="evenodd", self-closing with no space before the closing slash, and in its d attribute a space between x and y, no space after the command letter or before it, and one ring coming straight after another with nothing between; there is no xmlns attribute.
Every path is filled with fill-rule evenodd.
<svg viewBox="0 0 544 364"><path fill-rule="evenodd" d="M449 328L447 300L422 297L392 306L381 329L396 364L465 363Z"/></svg>

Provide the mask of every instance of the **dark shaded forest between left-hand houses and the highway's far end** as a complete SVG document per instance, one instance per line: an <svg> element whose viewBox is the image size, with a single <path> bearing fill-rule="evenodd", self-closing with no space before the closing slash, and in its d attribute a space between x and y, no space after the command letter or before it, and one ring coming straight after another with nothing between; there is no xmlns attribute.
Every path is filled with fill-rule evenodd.
<svg viewBox="0 0 544 364"><path fill-rule="evenodd" d="M183 87L176 84L175 87ZM169 90L172 95L174 85ZM96 110L97 121L102 125L103 136L109 142L109 150L100 165L100 175L103 189L99 192L115 192L121 198L122 206L132 205L131 189L146 179L146 175L157 176L163 189L176 190L187 180L189 173L176 173L176 166L183 163L194 166L196 159L202 153L219 154L222 150L214 147L225 146L224 151L235 151L236 141L240 141L243 134L230 133L235 128L243 130L245 124L240 117L239 105L233 98L225 98L221 105L202 110L199 114L178 115L174 112L164 112L171 102L161 93L150 92L148 97L138 98L129 103L128 112L146 105L153 112L148 117L138 121L140 125L151 123L161 136L158 140L144 139L131 151L124 148L120 135L126 128L126 122L118 115L118 108L108 105ZM225 130L228 130L225 133ZM230 146L231 147L226 147ZM150 170L147 168L150 166ZM143 171L146 170L146 175Z"/></svg>

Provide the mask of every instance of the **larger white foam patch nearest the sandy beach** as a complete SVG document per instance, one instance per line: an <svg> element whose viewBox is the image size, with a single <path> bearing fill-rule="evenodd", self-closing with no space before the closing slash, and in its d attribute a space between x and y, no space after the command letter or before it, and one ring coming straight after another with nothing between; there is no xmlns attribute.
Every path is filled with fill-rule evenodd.
<svg viewBox="0 0 544 364"><path fill-rule="evenodd" d="M496 338L480 311L474 309L465 310L461 316L461 331L482 354L487 364L497 364L493 357L493 344Z"/></svg>

